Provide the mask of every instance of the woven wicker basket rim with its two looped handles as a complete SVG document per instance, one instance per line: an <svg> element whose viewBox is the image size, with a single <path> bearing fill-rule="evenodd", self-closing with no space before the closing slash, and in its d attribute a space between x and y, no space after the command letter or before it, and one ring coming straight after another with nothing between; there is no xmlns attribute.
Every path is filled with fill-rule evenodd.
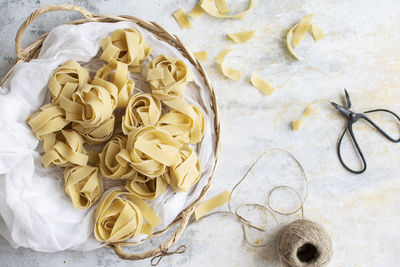
<svg viewBox="0 0 400 267"><path fill-rule="evenodd" d="M40 15L51 12L51 11L57 11L57 10L65 10L65 11L77 11L83 15L83 19L80 20L75 20L71 21L67 24L82 24L86 22L108 22L108 23L114 23L114 22L119 22L119 21L132 21L136 23L138 26L148 30L152 34L154 34L157 39L159 39L161 42L166 42L169 45L177 48L182 56L184 56L186 59L189 60L189 62L199 71L201 76L204 79L204 82L210 91L210 96L212 100L212 109L215 113L215 122L214 122L214 130L216 133L216 150L214 151L215 154L215 161L217 162L218 156L219 156L219 148L220 148L220 123L219 123L219 114L218 114L218 107L217 107L217 99L215 96L215 92L213 90L213 87L211 86L211 83L207 77L207 74L201 64L191 55L191 53L186 49L186 47L182 44L182 42L179 40L179 38L175 35L172 35L168 33L165 29L163 29L160 25L158 25L155 22L145 22L140 20L139 18L136 17L131 17L131 16L108 16L108 15L98 15L98 14L93 14L86 10L83 7L75 6L75 5L50 5L50 6L45 6L37 9L35 12L33 12L26 20L25 22L20 26L18 29L16 38L15 38L15 52L17 54L17 59L13 67L7 72L7 74L4 76L2 79L0 86L3 85L4 81L7 79L7 77L11 74L13 71L14 67L20 63L20 62L28 62L32 59L35 59L38 57L40 49L42 48L43 41L47 37L47 34L43 34L40 36L36 41L34 41L32 44L27 46L26 48L22 48L21 46L21 39L22 35L25 32L26 28L35 20L37 19ZM215 162L215 163L216 163ZM212 172L211 177L208 180L207 185L202 189L200 196L185 210L183 210L176 218L175 220L168 225L164 230L159 231L154 233L152 236L149 236L147 239L139 242L139 243L129 243L129 242L118 242L118 243L110 243L109 246L113 247L114 251L120 256L122 259L127 259L127 260L141 260L149 257L155 257L155 256L162 256L165 254L168 254L168 249L174 245L179 238L181 237L184 229L186 228L189 218L194 212L197 204L201 201L201 199L204 197L204 195L207 193L212 177L215 171L215 166L214 170ZM152 239L156 236L163 235L168 232L168 230L174 226L174 225L179 225L174 233L163 243L159 244L157 247L154 247L153 249L137 254L127 254L124 253L121 249L123 246L135 246L138 244L141 244L142 242Z"/></svg>

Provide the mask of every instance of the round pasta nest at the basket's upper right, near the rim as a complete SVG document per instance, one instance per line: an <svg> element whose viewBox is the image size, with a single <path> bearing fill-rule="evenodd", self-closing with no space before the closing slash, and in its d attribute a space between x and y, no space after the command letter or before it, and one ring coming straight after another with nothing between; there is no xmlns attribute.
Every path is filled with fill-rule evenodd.
<svg viewBox="0 0 400 267"><path fill-rule="evenodd" d="M186 84L193 81L193 74L183 60L160 55L149 64L146 78L154 97L173 100L182 99Z"/></svg>

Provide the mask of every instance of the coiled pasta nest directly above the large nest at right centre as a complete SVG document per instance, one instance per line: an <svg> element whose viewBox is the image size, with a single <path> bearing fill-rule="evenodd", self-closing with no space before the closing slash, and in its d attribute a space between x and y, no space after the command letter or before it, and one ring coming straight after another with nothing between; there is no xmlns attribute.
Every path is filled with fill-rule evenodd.
<svg viewBox="0 0 400 267"><path fill-rule="evenodd" d="M129 99L122 116L122 132L131 131L144 125L155 125L161 115L161 102L151 94L138 93Z"/></svg>

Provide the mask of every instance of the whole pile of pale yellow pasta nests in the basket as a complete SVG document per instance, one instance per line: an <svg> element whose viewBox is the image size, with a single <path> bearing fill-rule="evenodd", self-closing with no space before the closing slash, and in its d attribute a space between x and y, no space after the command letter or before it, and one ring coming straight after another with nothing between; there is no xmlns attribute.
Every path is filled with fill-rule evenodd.
<svg viewBox="0 0 400 267"><path fill-rule="evenodd" d="M205 121L199 108L183 101L193 75L182 60L155 57L146 72L151 93L132 95L130 73L142 71L151 48L136 29L114 31L101 47L107 63L95 77L67 61L48 83L51 103L27 122L43 141L43 166L65 168L64 188L73 206L88 209L99 201L96 239L118 242L151 235L161 219L147 202L168 186L187 191L199 180L200 162L189 144L201 141ZM122 110L119 119L116 110ZM100 152L90 150L96 145ZM103 177L126 180L125 187L103 195Z"/></svg>

